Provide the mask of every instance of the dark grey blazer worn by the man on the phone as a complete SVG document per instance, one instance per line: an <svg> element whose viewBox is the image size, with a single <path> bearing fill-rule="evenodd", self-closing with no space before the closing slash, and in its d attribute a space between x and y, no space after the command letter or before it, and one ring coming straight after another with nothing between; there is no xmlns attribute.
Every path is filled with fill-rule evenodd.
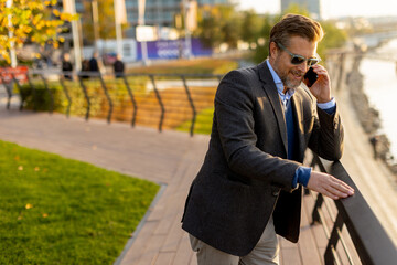
<svg viewBox="0 0 397 265"><path fill-rule="evenodd" d="M219 251L245 256L273 214L276 232L298 241L302 192L292 189L292 179L304 150L336 160L343 149L337 108L328 115L305 89L297 88L291 102L299 140L297 161L291 161L286 159L281 100L266 62L222 80L208 151L185 203L185 231Z"/></svg>

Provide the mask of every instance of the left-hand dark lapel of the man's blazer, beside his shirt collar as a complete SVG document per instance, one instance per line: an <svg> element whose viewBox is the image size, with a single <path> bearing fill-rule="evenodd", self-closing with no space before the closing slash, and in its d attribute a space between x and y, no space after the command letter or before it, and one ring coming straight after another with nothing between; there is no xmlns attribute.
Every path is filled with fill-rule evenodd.
<svg viewBox="0 0 397 265"><path fill-rule="evenodd" d="M287 125L286 117L282 110L282 105L280 100L280 96L278 95L276 84L270 74L270 70L267 66L266 61L258 65L259 78L264 83L262 87L265 93L267 94L271 107L275 112L275 116L277 118L277 124L279 127L279 131L281 135L282 144L285 146L286 155L288 153L288 140L287 140Z"/></svg>

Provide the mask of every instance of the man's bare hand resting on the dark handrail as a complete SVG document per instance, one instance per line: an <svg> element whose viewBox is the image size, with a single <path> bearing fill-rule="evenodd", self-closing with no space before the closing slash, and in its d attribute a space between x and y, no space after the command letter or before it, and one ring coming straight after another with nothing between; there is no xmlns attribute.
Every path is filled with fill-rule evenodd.
<svg viewBox="0 0 397 265"><path fill-rule="evenodd" d="M333 200L347 198L354 194L354 189L331 174L312 171L308 182L308 188L320 192Z"/></svg>

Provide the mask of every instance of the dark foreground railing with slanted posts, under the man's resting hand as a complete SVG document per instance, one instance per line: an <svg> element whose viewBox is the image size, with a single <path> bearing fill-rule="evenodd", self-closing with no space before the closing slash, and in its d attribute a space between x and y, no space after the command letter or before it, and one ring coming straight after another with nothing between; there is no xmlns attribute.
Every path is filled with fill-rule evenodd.
<svg viewBox="0 0 397 265"><path fill-rule="evenodd" d="M340 161L329 162L313 155L311 167L318 167L322 172L336 177L355 190L353 197L333 201L336 213L330 204L332 200L325 200L322 194L316 194L312 212L312 224L321 223L328 239L324 253L325 265L360 263L369 265L396 264L396 246L343 165ZM326 214L331 215L333 220L331 229L326 222ZM348 236L342 233L344 226L347 229ZM352 244L348 244L347 240ZM341 252L344 253L344 257L341 257L341 253L336 251L337 243L342 246ZM360 261L355 261L357 259L354 257L355 255L358 256Z"/></svg>

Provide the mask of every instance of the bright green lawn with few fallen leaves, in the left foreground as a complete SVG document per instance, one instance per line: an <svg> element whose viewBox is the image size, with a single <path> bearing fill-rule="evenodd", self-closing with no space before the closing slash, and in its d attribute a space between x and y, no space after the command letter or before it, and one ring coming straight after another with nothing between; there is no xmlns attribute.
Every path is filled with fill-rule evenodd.
<svg viewBox="0 0 397 265"><path fill-rule="evenodd" d="M0 264L112 264L158 190L0 141Z"/></svg>

